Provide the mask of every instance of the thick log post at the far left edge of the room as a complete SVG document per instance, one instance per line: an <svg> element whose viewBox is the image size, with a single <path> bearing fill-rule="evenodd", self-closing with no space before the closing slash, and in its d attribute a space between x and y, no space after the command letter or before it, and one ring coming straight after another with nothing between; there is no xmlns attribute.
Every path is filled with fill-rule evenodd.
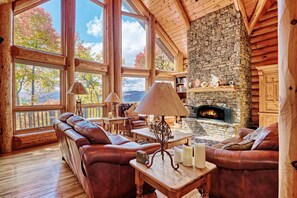
<svg viewBox="0 0 297 198"><path fill-rule="evenodd" d="M12 3L0 5L0 153L12 150L12 58L10 54Z"/></svg>

